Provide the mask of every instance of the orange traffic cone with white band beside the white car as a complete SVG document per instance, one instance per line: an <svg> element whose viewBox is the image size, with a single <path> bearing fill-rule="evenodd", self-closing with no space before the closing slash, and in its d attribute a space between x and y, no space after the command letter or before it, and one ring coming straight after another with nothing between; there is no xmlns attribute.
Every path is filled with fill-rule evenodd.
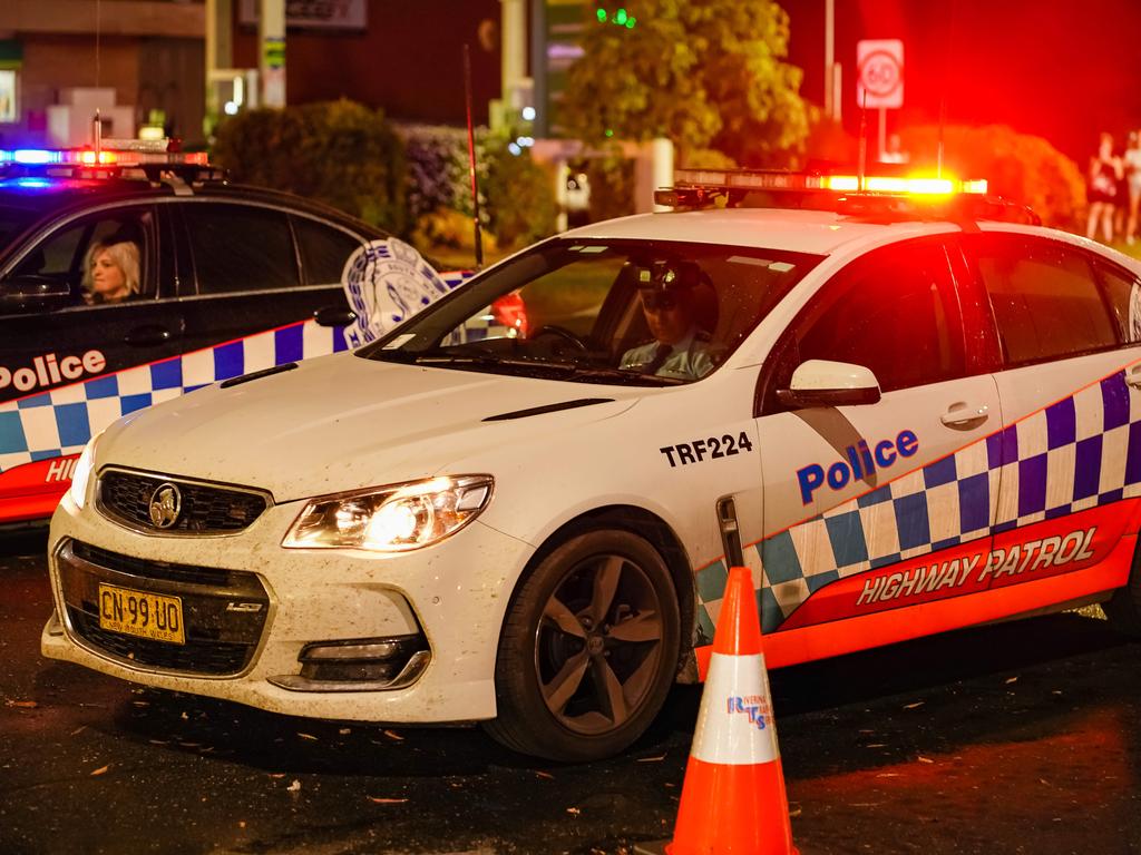
<svg viewBox="0 0 1141 855"><path fill-rule="evenodd" d="M756 598L729 571L666 855L796 855Z"/></svg>

